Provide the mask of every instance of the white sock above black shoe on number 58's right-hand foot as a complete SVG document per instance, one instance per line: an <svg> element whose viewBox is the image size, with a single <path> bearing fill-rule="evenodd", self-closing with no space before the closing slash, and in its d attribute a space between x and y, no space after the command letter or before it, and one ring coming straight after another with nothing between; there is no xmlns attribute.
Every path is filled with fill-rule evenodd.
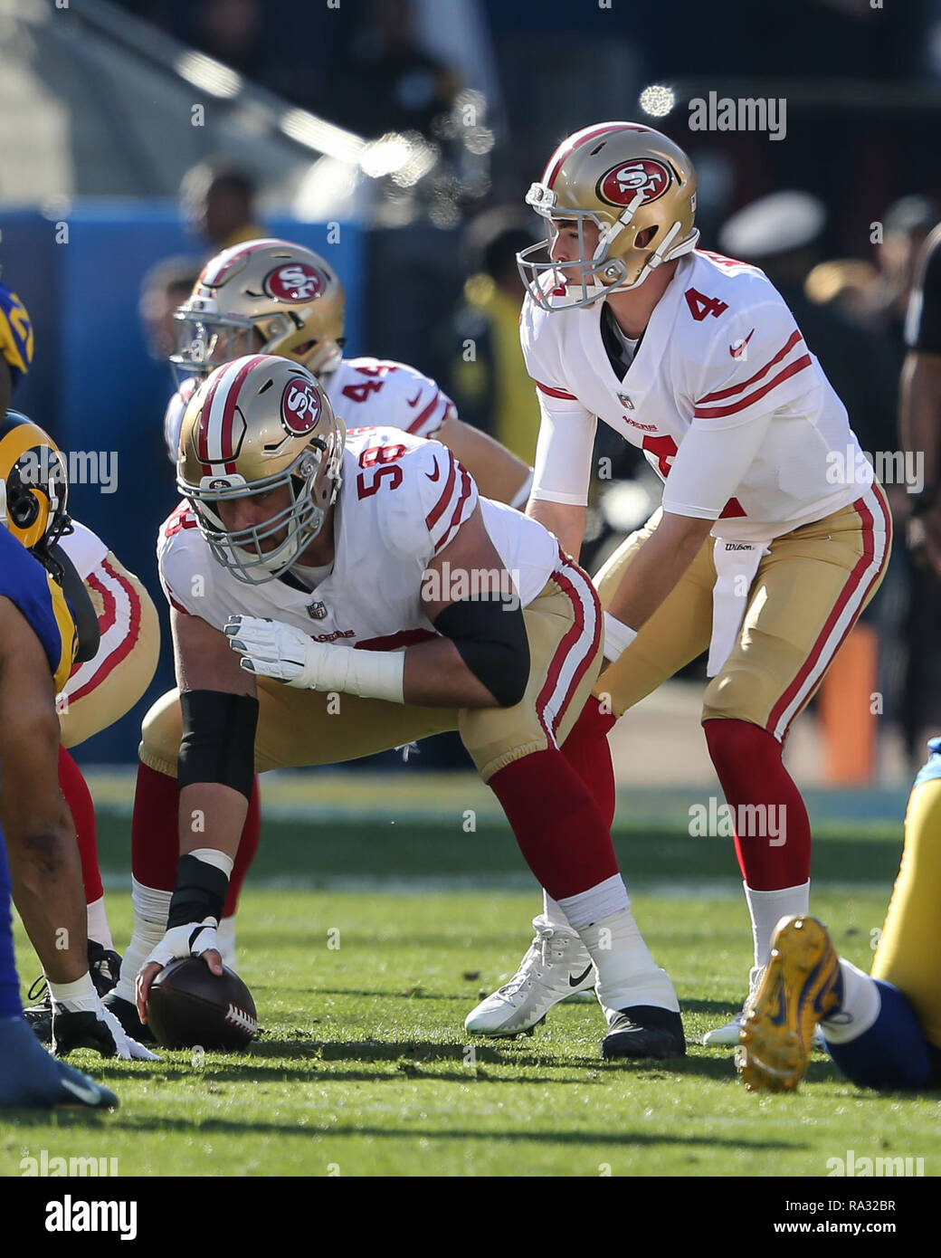
<svg viewBox="0 0 941 1258"><path fill-rule="evenodd" d="M665 970L644 944L630 905L579 931L598 969L595 991L605 1013L632 1005L658 1005L679 1011L679 1001Z"/></svg>

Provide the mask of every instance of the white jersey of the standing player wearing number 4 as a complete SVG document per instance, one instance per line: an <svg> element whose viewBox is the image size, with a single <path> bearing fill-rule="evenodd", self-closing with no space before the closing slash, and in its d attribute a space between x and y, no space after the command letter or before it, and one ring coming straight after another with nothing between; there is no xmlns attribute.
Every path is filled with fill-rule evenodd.
<svg viewBox="0 0 941 1258"><path fill-rule="evenodd" d="M872 483L843 403L764 272L699 249L681 258L624 379L601 338L604 304L523 304L520 335L542 409L535 498L587 501L596 419L643 449L665 482L667 509L716 518L717 537L770 540ZM717 486L721 502L701 509Z"/></svg>

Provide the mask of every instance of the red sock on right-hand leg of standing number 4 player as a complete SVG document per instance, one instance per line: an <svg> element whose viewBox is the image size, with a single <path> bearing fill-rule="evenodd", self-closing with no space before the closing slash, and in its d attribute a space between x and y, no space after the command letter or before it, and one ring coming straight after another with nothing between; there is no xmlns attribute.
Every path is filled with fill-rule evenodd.
<svg viewBox="0 0 941 1258"><path fill-rule="evenodd" d="M775 806L774 814L756 814L757 834L740 835L736 825L735 850L746 883L752 891L801 887L810 877L810 819L781 761L781 743L751 721L706 721L703 731L733 815L740 815L740 805ZM762 816L766 819L764 837ZM780 829L776 835L770 833L772 827L767 824L772 816L774 829Z"/></svg>

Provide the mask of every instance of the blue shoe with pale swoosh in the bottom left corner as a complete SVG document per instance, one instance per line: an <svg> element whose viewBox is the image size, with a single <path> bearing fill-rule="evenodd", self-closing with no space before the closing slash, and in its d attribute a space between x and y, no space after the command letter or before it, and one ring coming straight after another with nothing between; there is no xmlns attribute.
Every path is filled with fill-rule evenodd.
<svg viewBox="0 0 941 1258"><path fill-rule="evenodd" d="M0 1106L30 1110L117 1110L117 1097L57 1062L21 1018L0 1018Z"/></svg>

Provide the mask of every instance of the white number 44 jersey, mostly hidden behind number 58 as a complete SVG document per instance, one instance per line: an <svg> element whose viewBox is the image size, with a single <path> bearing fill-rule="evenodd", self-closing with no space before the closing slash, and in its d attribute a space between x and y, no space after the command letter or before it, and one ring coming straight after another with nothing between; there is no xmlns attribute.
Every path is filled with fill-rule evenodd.
<svg viewBox="0 0 941 1258"><path fill-rule="evenodd" d="M434 437L444 420L457 414L454 403L434 380L404 362L343 359L335 371L318 380L347 428L380 425L400 428L414 437ZM185 380L164 415L164 439L172 463L186 403L195 386L195 379Z"/></svg>

